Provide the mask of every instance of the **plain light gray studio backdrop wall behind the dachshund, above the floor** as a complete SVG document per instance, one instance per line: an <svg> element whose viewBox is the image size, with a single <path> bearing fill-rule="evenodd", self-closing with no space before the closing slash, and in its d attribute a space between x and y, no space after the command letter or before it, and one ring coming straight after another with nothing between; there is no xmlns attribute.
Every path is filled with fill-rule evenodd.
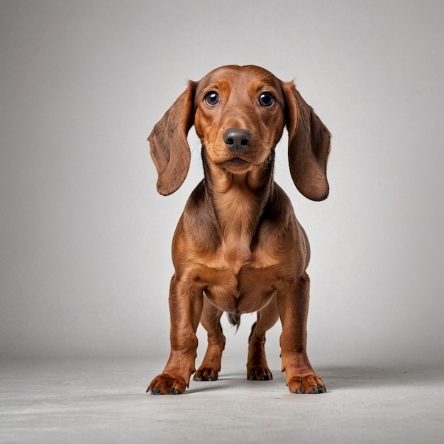
<svg viewBox="0 0 444 444"><path fill-rule="evenodd" d="M440 1L1 1L0 358L167 356L172 233L202 169L192 129L184 186L157 195L146 138L187 79L255 64L333 133L321 203L277 148L311 240L313 364L443 362L443 18ZM246 356L254 318L224 321L227 353Z"/></svg>

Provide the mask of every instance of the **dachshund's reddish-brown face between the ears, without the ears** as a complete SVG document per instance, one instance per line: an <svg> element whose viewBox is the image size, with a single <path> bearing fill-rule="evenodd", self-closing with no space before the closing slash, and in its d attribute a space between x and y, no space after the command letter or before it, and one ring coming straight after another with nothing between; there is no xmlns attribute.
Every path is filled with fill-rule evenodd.
<svg viewBox="0 0 444 444"><path fill-rule="evenodd" d="M279 79L260 67L220 67L196 86L194 126L213 164L248 172L267 161L285 126Z"/></svg>

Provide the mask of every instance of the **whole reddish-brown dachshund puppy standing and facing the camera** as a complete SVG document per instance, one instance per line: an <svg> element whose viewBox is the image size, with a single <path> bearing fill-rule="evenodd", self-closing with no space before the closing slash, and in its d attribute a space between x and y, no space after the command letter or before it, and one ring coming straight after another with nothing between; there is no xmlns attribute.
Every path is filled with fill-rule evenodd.
<svg viewBox="0 0 444 444"><path fill-rule="evenodd" d="M272 379L265 333L280 317L282 371L290 392L326 392L306 353L309 242L273 180L273 165L287 126L294 184L309 199L326 199L330 133L292 82L252 65L220 67L189 82L148 138L160 194L175 192L187 176L193 125L202 143L204 179L174 233L171 353L147 392L181 394L193 372L197 381L218 378L224 311L234 325L242 313L257 311L248 379ZM208 331L208 348L196 371L199 321Z"/></svg>

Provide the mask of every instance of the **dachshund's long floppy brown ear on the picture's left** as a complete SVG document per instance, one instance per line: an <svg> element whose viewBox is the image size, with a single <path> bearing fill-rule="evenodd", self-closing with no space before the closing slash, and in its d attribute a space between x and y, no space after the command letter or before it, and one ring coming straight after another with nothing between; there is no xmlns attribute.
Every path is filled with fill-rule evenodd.
<svg viewBox="0 0 444 444"><path fill-rule="evenodd" d="M196 83L189 82L188 88L155 124L148 137L158 174L157 192L164 196L174 193L188 174L191 151L187 134L194 123L195 90Z"/></svg>

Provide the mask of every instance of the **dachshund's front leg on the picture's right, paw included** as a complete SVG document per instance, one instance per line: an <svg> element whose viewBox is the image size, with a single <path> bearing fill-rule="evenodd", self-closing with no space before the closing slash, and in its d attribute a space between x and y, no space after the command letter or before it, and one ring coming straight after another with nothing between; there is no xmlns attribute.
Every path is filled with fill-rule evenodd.
<svg viewBox="0 0 444 444"><path fill-rule="evenodd" d="M280 338L282 371L292 393L323 393L326 386L313 371L306 352L306 323L309 313L310 279L302 277L278 292L277 304L282 321Z"/></svg>

